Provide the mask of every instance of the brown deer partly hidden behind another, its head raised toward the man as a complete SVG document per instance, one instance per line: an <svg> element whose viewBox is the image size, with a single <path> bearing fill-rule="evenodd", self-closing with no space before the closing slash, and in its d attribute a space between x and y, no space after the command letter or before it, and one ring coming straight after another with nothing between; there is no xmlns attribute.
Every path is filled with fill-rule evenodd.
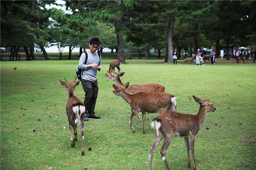
<svg viewBox="0 0 256 170"><path fill-rule="evenodd" d="M108 71L106 77L113 80L114 83L124 88L124 84L121 82L120 77L124 75L124 72L117 74L116 72ZM148 84L141 84L141 85L131 85L125 89L125 92L128 94L136 94L138 92L164 92L164 86L158 83L148 83Z"/></svg>

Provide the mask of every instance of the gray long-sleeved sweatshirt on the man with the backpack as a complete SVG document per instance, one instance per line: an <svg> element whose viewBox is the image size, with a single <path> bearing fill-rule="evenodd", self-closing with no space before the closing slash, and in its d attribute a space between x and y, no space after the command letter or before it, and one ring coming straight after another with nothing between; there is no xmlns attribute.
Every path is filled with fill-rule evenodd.
<svg viewBox="0 0 256 170"><path fill-rule="evenodd" d="M94 82L97 80L97 69L94 67L87 68L87 65L93 64L93 63L101 65L101 59L99 59L97 52L92 54L90 50L87 50L87 54L88 54L87 63L84 64L84 62L86 61L86 54L82 53L79 59L78 68L82 69L83 71L81 76L83 80L89 80Z"/></svg>

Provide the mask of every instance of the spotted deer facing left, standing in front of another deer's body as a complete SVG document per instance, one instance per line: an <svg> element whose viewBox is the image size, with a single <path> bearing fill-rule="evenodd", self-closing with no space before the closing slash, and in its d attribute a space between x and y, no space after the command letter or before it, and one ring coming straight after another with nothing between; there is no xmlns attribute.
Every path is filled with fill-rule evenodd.
<svg viewBox="0 0 256 170"><path fill-rule="evenodd" d="M177 111L177 98L172 94L166 92L139 92L130 95L125 92L125 89L129 87L129 83L124 85L124 89L115 84L113 84L113 87L115 89L113 93L121 96L131 106L131 130L134 133L136 130L133 127L133 117L138 115L139 112L142 112L142 133L145 134L146 112Z"/></svg>

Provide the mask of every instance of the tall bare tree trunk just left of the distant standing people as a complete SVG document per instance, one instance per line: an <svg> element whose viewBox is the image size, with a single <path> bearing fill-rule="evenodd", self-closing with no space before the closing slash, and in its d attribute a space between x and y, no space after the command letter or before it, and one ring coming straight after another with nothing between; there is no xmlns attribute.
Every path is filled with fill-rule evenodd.
<svg viewBox="0 0 256 170"><path fill-rule="evenodd" d="M174 31L174 17L169 16L167 29L167 46L168 46L168 60L167 63L173 62L173 31Z"/></svg>

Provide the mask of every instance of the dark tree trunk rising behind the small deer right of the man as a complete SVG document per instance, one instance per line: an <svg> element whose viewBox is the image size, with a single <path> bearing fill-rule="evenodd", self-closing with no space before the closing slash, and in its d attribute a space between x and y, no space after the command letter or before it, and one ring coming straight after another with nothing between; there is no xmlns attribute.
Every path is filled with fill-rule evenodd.
<svg viewBox="0 0 256 170"><path fill-rule="evenodd" d="M123 48L123 36L122 36L122 27L123 27L123 20L124 20L124 4L123 1L120 1L120 10L121 16L118 20L115 21L115 31L117 37L117 59L121 61L122 64L125 64L125 57L124 57L124 48Z"/></svg>

